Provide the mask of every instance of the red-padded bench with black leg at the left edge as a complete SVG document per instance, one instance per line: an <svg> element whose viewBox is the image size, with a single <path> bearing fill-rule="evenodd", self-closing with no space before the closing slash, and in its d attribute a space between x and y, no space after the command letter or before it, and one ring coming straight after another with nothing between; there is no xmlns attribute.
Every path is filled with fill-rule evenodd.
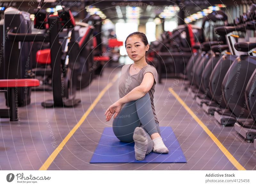
<svg viewBox="0 0 256 186"><path fill-rule="evenodd" d="M37 87L37 79L4 79L0 80L0 88L10 89L10 109L0 109L0 118L10 118L11 121L18 120L18 113L15 103L15 88L17 87ZM6 92L6 91L2 91Z"/></svg>

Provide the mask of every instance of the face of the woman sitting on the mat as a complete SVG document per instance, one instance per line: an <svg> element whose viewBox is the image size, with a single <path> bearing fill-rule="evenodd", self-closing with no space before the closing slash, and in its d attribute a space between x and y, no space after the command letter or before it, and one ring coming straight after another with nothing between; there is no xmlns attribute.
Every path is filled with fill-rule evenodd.
<svg viewBox="0 0 256 186"><path fill-rule="evenodd" d="M145 46L140 37L136 35L130 36L126 40L126 52L133 61L139 61L143 58L148 48L149 44Z"/></svg>

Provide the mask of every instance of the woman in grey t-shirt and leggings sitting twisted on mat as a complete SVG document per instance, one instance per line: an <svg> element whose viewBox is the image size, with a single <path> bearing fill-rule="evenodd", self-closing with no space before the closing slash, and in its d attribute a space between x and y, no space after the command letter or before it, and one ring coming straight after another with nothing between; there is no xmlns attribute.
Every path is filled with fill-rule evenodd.
<svg viewBox="0 0 256 186"><path fill-rule="evenodd" d="M148 39L144 33L134 32L125 40L125 48L134 63L124 65L119 79L119 100L109 106L104 115L109 121L114 115L113 131L123 142L135 142L135 158L143 160L152 150L169 153L160 136L154 106L157 72L148 65Z"/></svg>

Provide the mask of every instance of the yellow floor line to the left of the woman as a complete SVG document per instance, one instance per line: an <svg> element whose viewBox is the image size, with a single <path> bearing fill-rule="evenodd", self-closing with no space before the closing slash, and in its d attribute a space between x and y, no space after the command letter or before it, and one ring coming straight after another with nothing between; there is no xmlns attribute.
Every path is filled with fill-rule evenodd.
<svg viewBox="0 0 256 186"><path fill-rule="evenodd" d="M113 85L113 83L117 80L119 73L115 75L111 82L100 92L100 94L93 101L92 105L87 109L82 118L78 121L74 128L68 133L68 135L64 138L64 140L59 144L59 146L52 152L49 158L44 162L42 167L39 170L47 170L48 167L52 164L52 161L56 158L59 152L62 150L64 145L68 142L69 138L76 132L76 130L82 125L86 117L90 114L95 105L99 102L100 98L105 94L105 92Z"/></svg>

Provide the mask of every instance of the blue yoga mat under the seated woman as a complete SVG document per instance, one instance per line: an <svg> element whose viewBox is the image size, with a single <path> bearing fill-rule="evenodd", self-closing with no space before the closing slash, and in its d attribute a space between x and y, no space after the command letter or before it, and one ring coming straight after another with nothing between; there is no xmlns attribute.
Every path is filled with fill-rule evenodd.
<svg viewBox="0 0 256 186"><path fill-rule="evenodd" d="M169 153L150 152L144 160L139 161L135 159L134 142L121 142L115 136L112 127L104 128L90 163L186 163L186 158L172 128L160 127L160 130Z"/></svg>

